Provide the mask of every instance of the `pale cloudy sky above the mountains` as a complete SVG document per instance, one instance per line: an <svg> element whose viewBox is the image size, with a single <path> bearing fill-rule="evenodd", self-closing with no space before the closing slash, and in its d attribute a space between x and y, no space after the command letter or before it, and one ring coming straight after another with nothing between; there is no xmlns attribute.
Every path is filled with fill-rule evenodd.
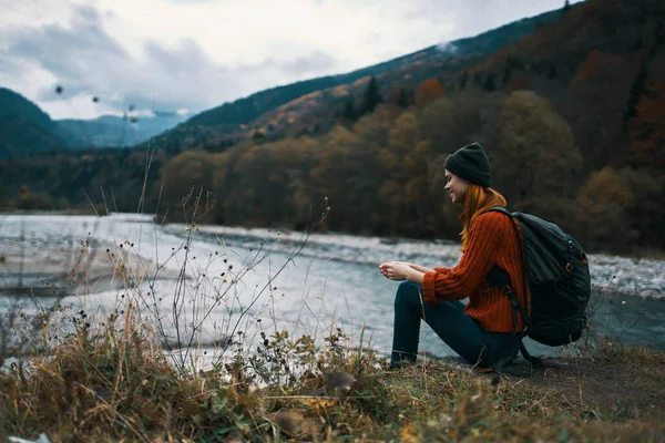
<svg viewBox="0 0 665 443"><path fill-rule="evenodd" d="M198 112L562 6L563 0L0 0L0 86L54 119L122 113L131 104Z"/></svg>

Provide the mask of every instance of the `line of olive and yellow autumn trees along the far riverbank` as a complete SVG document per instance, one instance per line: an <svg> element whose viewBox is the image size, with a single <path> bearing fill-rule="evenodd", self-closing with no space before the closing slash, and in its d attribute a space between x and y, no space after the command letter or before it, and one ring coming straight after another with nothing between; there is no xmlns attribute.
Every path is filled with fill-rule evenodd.
<svg viewBox="0 0 665 443"><path fill-rule="evenodd" d="M187 151L161 171L160 210L183 220L183 196L204 189L207 223L303 228L327 197L332 231L454 239L459 208L443 190L443 163L472 141L485 147L511 209L551 219L593 250L665 247L657 167L589 171L571 125L530 91L464 92L406 111L377 104L317 138Z"/></svg>

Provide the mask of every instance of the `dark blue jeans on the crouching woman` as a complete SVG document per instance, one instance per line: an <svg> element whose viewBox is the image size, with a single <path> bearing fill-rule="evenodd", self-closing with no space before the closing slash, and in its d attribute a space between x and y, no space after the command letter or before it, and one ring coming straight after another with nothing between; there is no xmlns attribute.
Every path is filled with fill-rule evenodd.
<svg viewBox="0 0 665 443"><path fill-rule="evenodd" d="M500 358L516 353L511 332L484 331L478 321L467 316L461 301L441 301L436 306L424 305L422 287L402 281L395 296L395 328L392 331L391 364L416 361L420 320L471 364L493 365ZM511 356L513 357L513 356Z"/></svg>

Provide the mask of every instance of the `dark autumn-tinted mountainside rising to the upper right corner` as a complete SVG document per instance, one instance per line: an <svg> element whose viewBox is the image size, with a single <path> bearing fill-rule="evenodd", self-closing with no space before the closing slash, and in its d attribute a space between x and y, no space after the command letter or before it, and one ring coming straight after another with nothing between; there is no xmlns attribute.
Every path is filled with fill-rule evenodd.
<svg viewBox="0 0 665 443"><path fill-rule="evenodd" d="M586 0L358 72L368 75L299 96L232 132L224 133L225 124L187 126L194 119L177 131L186 136L185 146L207 151L222 151L225 137L325 134L365 112L372 74L383 101L397 104L396 97L405 95L402 109L460 91L489 95L530 90L570 122L586 172L626 162L665 164L659 147L665 133L658 126L665 120L661 0Z"/></svg>

